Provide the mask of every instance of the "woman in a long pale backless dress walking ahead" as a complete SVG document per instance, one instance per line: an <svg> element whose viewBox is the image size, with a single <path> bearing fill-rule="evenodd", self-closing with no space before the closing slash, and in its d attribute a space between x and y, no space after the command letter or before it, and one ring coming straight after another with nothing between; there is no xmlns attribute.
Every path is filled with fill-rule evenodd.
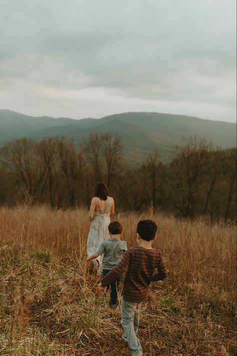
<svg viewBox="0 0 237 356"><path fill-rule="evenodd" d="M98 183L95 190L95 197L92 198L89 218L91 220L88 240L87 255L96 252L102 241L107 240L108 225L110 216L114 214L114 201L108 197L108 189L103 183ZM101 274L103 256L98 256L93 260L94 267L97 267L97 274Z"/></svg>

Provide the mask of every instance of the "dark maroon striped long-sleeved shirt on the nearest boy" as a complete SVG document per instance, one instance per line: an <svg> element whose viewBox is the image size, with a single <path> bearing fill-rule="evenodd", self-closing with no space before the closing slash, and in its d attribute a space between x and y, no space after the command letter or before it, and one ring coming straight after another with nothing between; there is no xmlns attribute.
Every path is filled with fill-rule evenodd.
<svg viewBox="0 0 237 356"><path fill-rule="evenodd" d="M156 249L141 246L128 248L121 261L101 280L105 287L118 278L127 266L123 285L123 299L129 302L141 302L148 299L148 285L167 277L161 253ZM154 274L157 268L158 272Z"/></svg>

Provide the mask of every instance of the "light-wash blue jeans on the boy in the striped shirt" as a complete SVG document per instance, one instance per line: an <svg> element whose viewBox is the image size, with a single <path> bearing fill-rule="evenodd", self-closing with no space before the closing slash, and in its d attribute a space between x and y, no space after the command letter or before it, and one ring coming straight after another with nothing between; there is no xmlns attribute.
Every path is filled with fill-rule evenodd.
<svg viewBox="0 0 237 356"><path fill-rule="evenodd" d="M128 302L121 297L121 324L124 329L132 356L142 355L140 341L136 336L139 325L139 307L141 302Z"/></svg>

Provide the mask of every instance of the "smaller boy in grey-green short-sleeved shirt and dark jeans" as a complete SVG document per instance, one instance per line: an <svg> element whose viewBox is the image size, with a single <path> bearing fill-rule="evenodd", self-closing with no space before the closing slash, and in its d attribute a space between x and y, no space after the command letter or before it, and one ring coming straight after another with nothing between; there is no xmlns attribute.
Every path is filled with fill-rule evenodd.
<svg viewBox="0 0 237 356"><path fill-rule="evenodd" d="M108 225L109 238L103 241L96 252L87 257L86 261L93 260L94 258L103 255L102 276L104 277L116 264L120 261L124 253L126 252L126 241L121 241L122 226L117 221L112 221ZM115 309L117 307L117 289L120 281L120 275L107 283L106 287L111 287L110 292L110 308Z"/></svg>

